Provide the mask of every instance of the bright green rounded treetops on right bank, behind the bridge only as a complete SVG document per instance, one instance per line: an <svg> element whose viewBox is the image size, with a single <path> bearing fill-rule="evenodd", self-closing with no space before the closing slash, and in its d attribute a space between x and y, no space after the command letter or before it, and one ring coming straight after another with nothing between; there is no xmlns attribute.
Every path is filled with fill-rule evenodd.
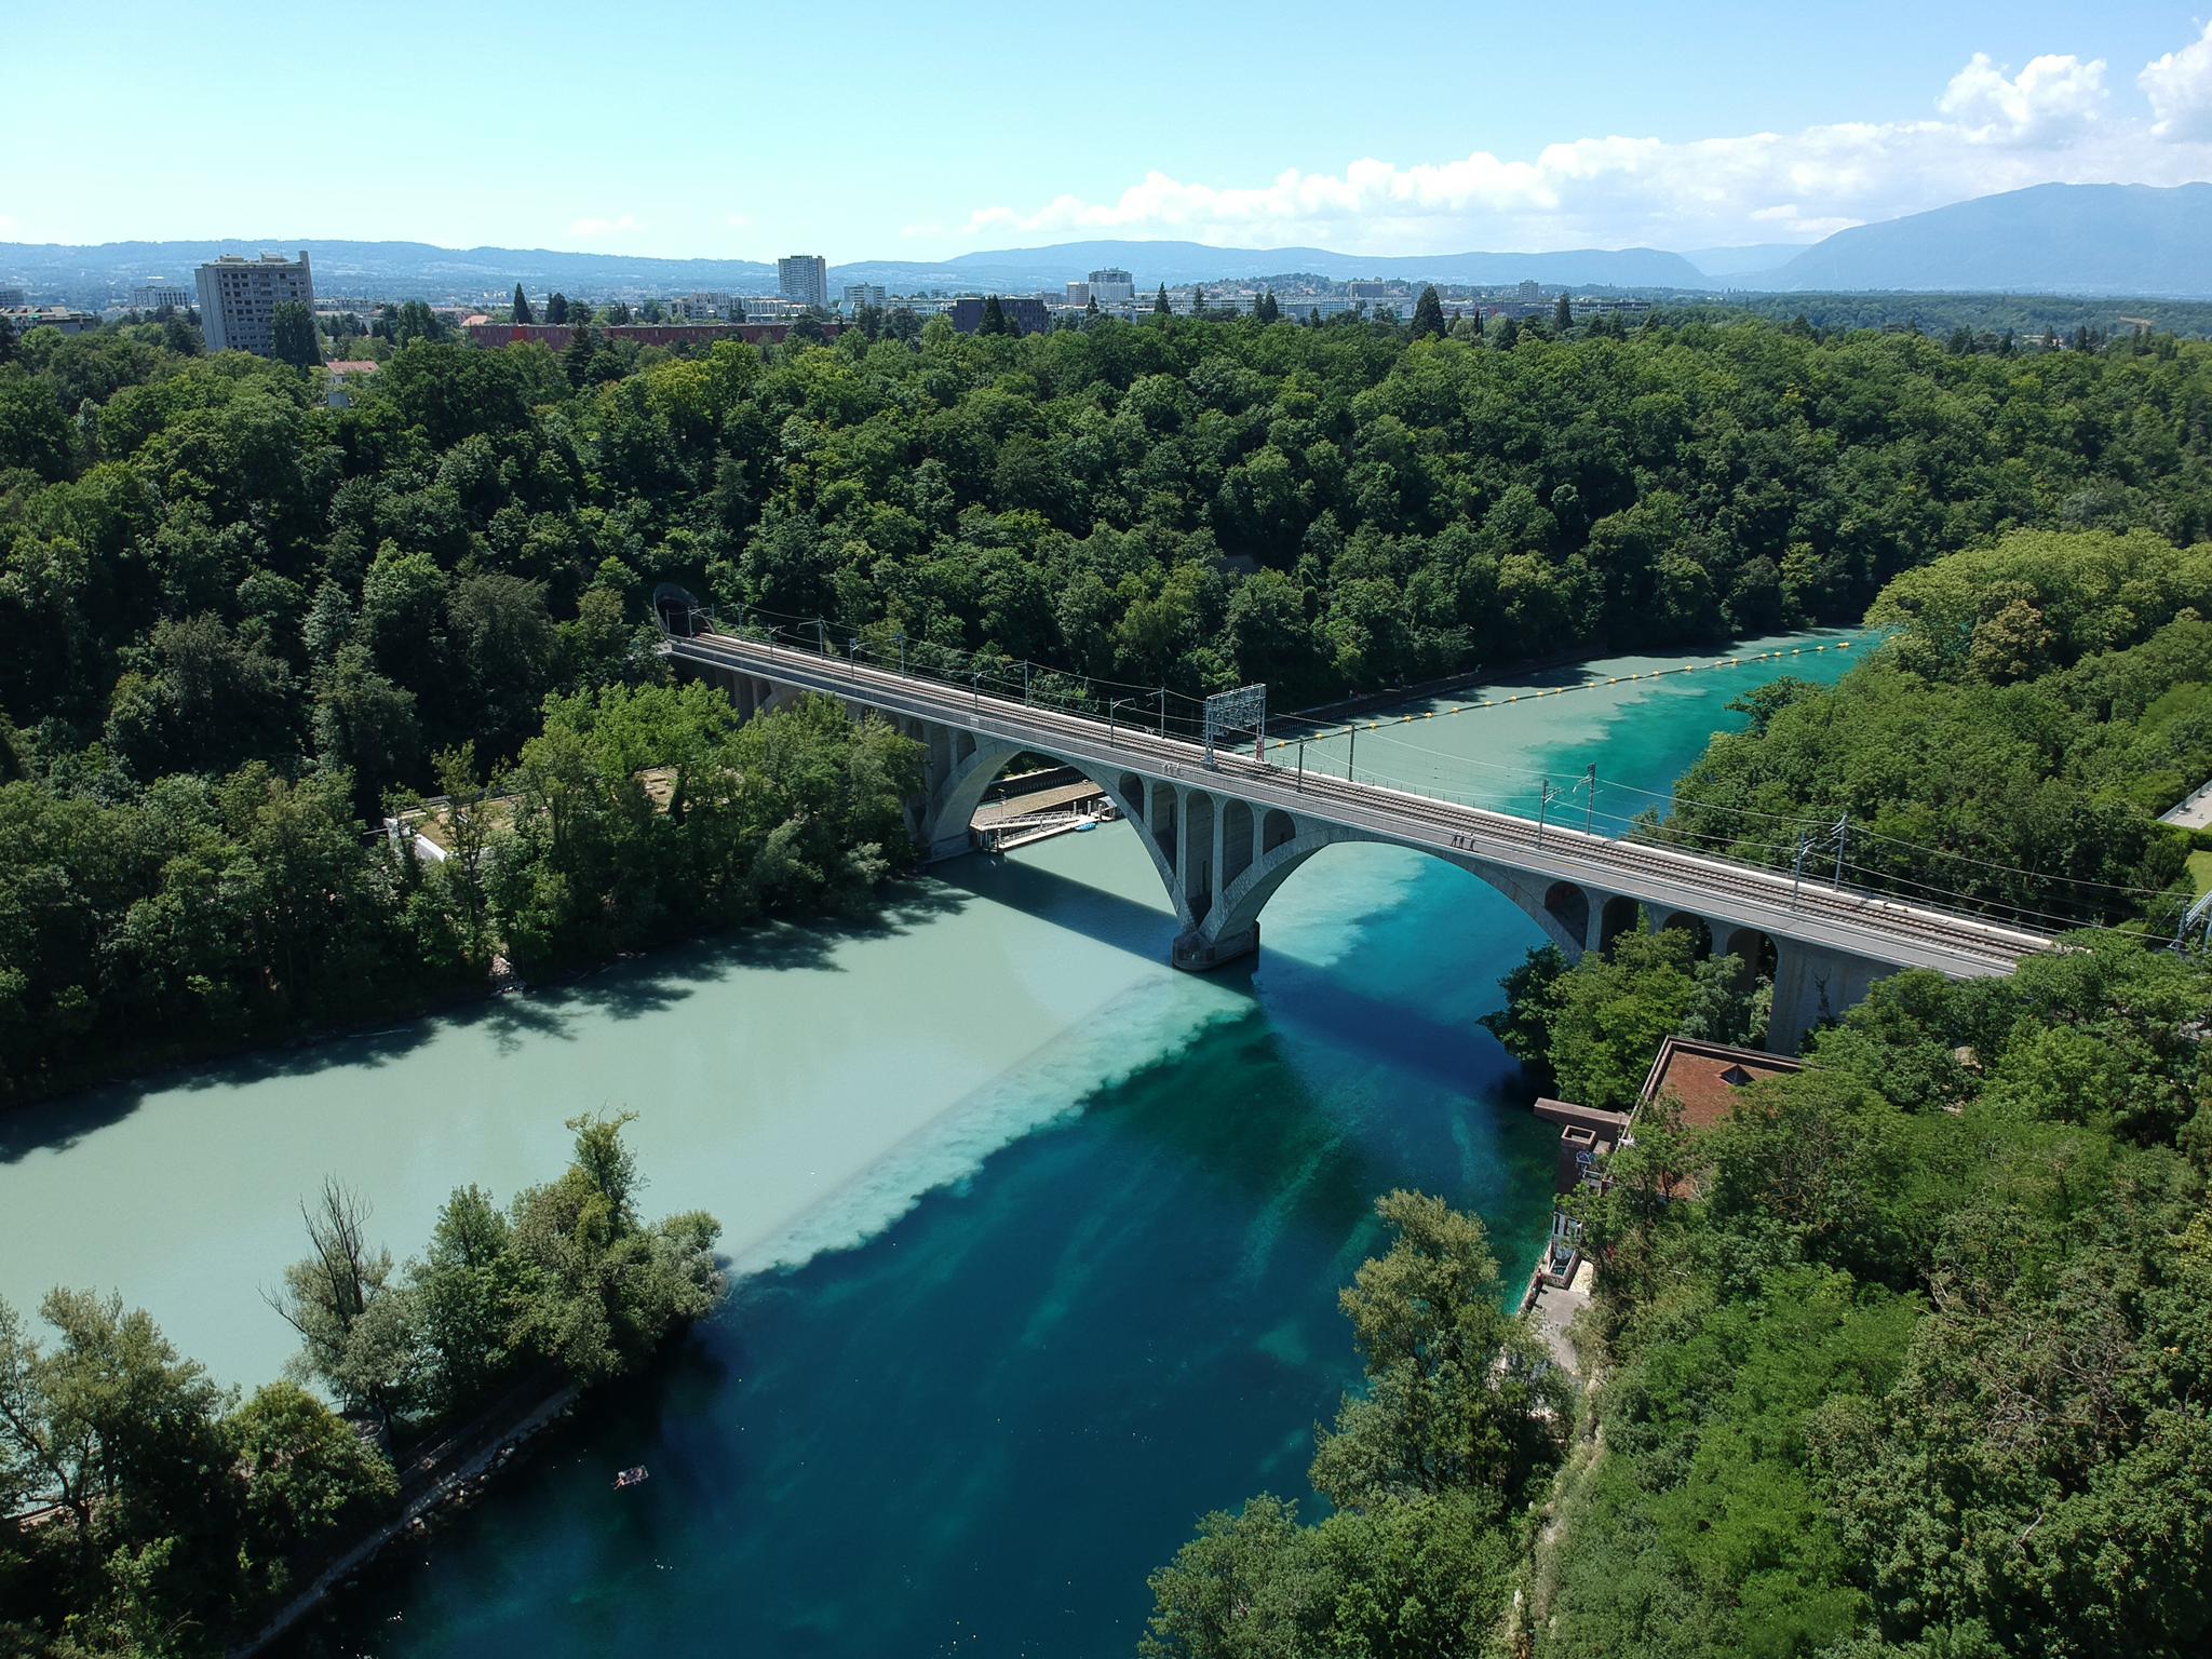
<svg viewBox="0 0 2212 1659"><path fill-rule="evenodd" d="M1774 681L1712 741L1657 834L1834 867L2033 927L2172 918L2192 838L2159 825L2212 776L2212 546L2020 531L1893 580L1889 641L1820 690Z"/></svg>

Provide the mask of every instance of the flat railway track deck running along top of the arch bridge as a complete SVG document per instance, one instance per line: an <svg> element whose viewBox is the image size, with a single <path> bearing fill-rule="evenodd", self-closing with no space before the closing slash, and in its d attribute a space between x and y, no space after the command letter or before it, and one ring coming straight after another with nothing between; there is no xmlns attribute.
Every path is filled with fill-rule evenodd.
<svg viewBox="0 0 2212 1659"><path fill-rule="evenodd" d="M1827 933L1838 949L1893 964L1973 975L2006 973L2022 956L2053 949L2046 933L1966 911L1907 905L1858 887L1794 880L1745 860L1540 825L1511 812L1438 801L1387 783L1360 783L1325 772L1292 774L1225 750L1217 752L1214 765L1208 768L1203 750L1183 739L989 697L980 688L962 692L956 684L792 646L701 633L670 637L670 650L692 661L1031 745L1057 759L1161 776L1179 787L1197 783L1252 805L1283 807L1400 845L1447 856L1462 854L1528 876L1590 883L1628 896L1663 891L1674 909L1694 911L1701 902L1714 914L1770 933Z"/></svg>

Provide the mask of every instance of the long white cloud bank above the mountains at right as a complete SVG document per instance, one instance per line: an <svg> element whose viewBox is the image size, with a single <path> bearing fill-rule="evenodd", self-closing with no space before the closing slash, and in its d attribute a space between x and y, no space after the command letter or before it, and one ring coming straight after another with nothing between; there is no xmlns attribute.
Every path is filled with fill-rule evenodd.
<svg viewBox="0 0 2212 1659"><path fill-rule="evenodd" d="M2106 62L1975 53L1929 119L1836 122L1708 139L1586 137L1528 157L1475 150L1398 166L1208 184L1146 173L1117 197L989 206L969 237L1190 237L1347 252L1814 241L1845 226L2046 181L2212 175L2212 31L2141 75L2159 117L2108 108ZM2163 142L2161 142L2163 139ZM920 228L914 228L920 230Z"/></svg>

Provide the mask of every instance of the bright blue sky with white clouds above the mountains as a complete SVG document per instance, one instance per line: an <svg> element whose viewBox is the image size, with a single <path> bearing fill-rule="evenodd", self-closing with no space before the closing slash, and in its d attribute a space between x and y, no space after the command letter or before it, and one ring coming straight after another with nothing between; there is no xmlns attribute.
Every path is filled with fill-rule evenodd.
<svg viewBox="0 0 2212 1659"><path fill-rule="evenodd" d="M2205 24L2079 0L122 0L9 75L0 241L1814 241L2046 179L2212 177Z"/></svg>

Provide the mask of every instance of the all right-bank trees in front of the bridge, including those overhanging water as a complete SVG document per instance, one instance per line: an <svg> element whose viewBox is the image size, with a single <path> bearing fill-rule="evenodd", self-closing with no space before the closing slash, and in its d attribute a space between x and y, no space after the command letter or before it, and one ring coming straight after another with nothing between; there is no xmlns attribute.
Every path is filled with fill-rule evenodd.
<svg viewBox="0 0 2212 1659"><path fill-rule="evenodd" d="M1528 1378L1495 1272L1409 1276L1405 1243L1369 1263L1347 1307L1374 1274L1407 1296L1387 1365L1354 1312L1376 1482L1345 1489L1325 1440L1318 1526L1279 1498L1208 1517L1155 1575L1144 1652L2199 1652L2212 971L2075 942L2011 980L1885 980L1725 1126L1639 1124L1582 1206L1595 1383L1564 1464L1557 1376ZM1566 978L1588 984L1544 1060L1630 1075L1608 1040L1681 964ZM1433 1458L1462 1436L1495 1462Z"/></svg>

